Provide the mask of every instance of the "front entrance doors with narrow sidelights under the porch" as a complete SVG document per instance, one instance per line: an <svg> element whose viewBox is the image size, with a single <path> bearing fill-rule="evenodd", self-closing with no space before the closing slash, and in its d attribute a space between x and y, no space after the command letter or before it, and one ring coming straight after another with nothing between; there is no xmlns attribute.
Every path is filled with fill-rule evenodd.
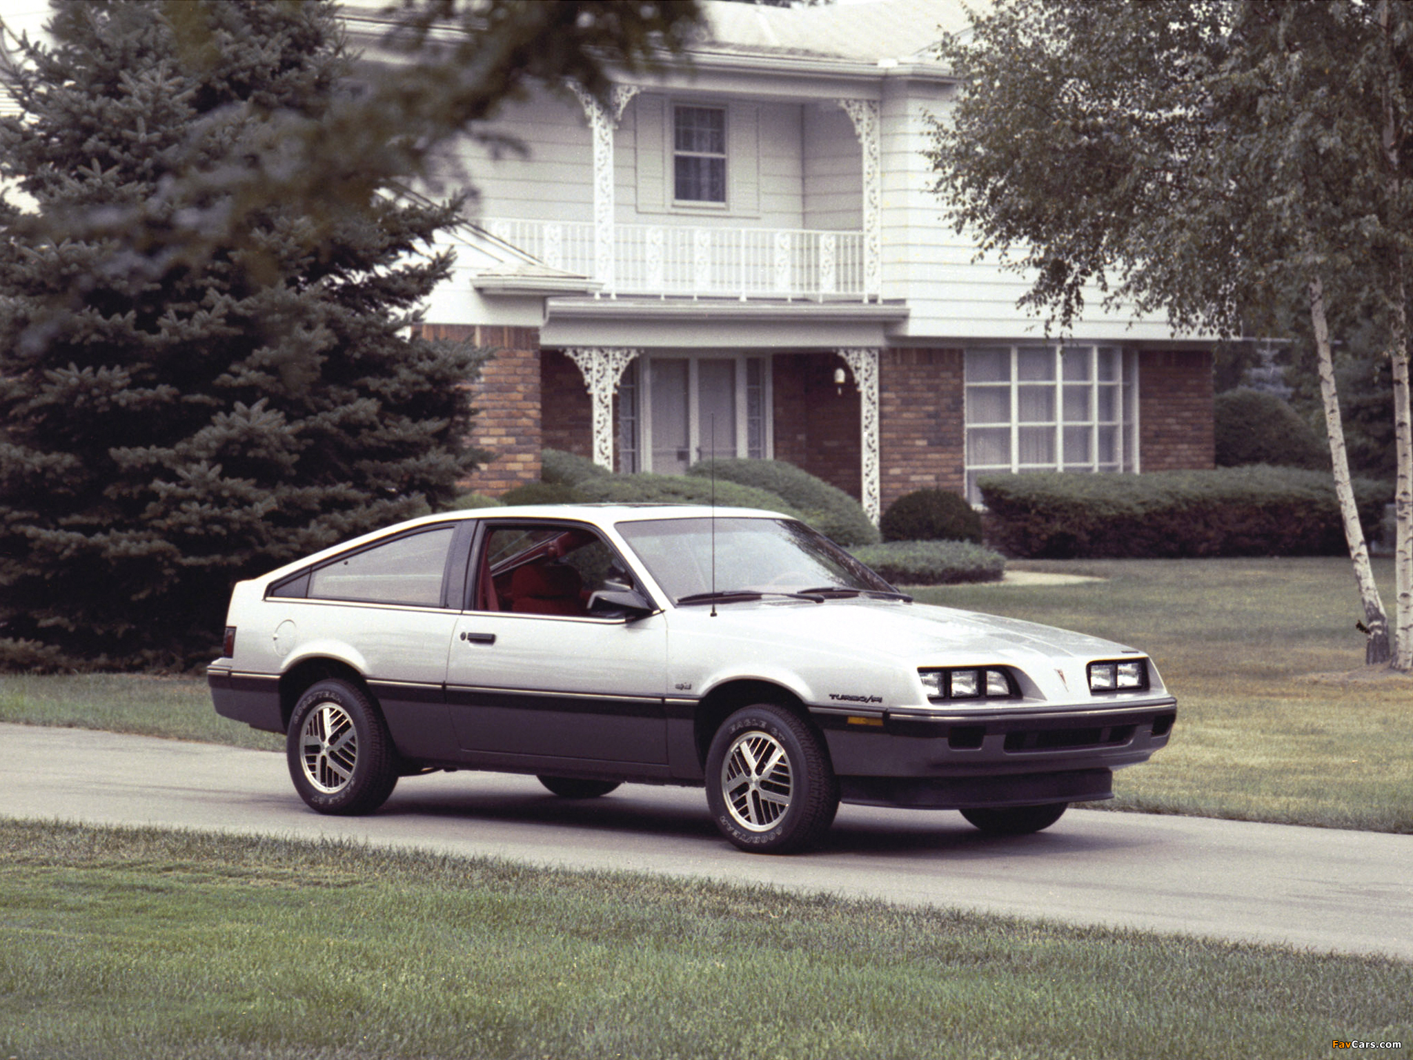
<svg viewBox="0 0 1413 1060"><path fill-rule="evenodd" d="M770 358L644 355L617 393L617 471L677 475L711 457L771 458Z"/></svg>

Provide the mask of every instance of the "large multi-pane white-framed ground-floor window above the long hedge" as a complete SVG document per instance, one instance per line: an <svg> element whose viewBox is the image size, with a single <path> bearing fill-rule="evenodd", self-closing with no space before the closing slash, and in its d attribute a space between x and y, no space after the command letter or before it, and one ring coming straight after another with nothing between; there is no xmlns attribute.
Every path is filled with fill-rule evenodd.
<svg viewBox="0 0 1413 1060"><path fill-rule="evenodd" d="M999 472L1137 471L1137 353L1080 343L966 351L966 499Z"/></svg>

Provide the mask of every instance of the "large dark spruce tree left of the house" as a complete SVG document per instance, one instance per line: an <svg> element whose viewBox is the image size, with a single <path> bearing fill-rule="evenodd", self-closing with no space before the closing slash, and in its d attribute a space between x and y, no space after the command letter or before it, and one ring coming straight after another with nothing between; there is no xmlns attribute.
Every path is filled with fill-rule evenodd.
<svg viewBox="0 0 1413 1060"><path fill-rule="evenodd" d="M326 0L57 0L51 35L0 122L0 666L191 663L236 579L444 505L480 455L482 353L411 328L458 204L239 202L355 92Z"/></svg>

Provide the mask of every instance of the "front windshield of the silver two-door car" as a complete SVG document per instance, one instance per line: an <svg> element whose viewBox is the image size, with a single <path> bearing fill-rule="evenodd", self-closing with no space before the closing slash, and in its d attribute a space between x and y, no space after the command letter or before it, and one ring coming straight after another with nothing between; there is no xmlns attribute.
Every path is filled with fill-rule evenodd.
<svg viewBox="0 0 1413 1060"><path fill-rule="evenodd" d="M619 523L617 531L674 603L742 592L892 592L829 538L788 519L650 519Z"/></svg>

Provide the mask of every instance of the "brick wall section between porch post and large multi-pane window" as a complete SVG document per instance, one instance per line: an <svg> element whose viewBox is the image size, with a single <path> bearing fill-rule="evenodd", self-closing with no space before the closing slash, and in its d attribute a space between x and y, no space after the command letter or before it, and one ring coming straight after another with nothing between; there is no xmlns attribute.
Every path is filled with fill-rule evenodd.
<svg viewBox="0 0 1413 1060"><path fill-rule="evenodd" d="M879 493L964 493L965 406L959 349L885 349L879 358Z"/></svg>

